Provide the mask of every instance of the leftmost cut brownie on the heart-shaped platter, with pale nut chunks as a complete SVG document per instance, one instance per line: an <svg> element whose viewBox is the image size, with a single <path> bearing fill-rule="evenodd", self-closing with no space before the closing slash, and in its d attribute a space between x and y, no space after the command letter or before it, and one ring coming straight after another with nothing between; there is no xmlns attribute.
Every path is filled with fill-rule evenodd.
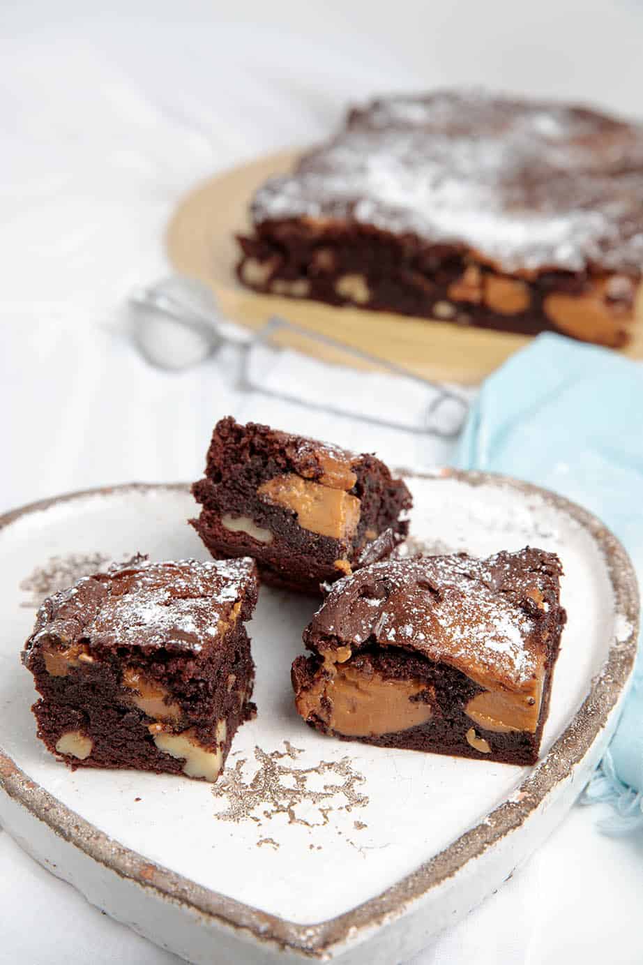
<svg viewBox="0 0 643 965"><path fill-rule="evenodd" d="M22 659L47 748L72 768L216 781L255 715L257 586L249 559L139 558L45 599Z"/></svg>

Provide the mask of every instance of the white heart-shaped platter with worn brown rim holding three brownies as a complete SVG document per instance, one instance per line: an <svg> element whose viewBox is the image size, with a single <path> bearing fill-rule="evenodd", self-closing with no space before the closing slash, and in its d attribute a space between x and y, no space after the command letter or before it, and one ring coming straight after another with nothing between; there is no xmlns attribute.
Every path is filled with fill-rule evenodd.
<svg viewBox="0 0 643 965"><path fill-rule="evenodd" d="M584 510L500 477L408 479L428 552L555 550L569 614L534 768L367 747L309 730L289 668L315 601L263 589L250 624L256 720L215 786L72 773L35 736L19 651L40 598L140 550L205 557L183 485L123 486L0 520L0 821L99 908L192 962L389 963L464 916L549 835L615 727L636 583Z"/></svg>

